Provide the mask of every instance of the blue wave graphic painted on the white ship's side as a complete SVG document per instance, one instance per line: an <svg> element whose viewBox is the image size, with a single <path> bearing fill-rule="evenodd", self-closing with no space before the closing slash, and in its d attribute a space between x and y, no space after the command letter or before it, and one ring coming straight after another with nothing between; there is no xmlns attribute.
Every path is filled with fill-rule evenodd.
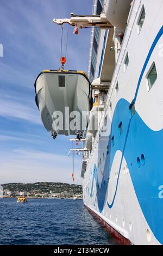
<svg viewBox="0 0 163 256"><path fill-rule="evenodd" d="M139 82L137 84L134 102L139 92L142 76L146 70L146 66L151 58L152 52L158 43L163 33L163 26L149 50L145 64L141 71ZM130 117L129 110L130 103L124 99L117 102L114 115L111 123L111 132L108 140L109 151L107 151L105 158L105 165L103 170L103 179L101 187L98 182L98 172L96 164L93 169L92 186L90 197L92 198L93 184L96 181L97 188L97 202L99 212L102 212L104 204L106 203L106 192L109 186L109 176L111 171L112 162L117 150L122 152L122 158L120 162L120 168L118 171L117 184L115 188L115 194L112 202L108 204L109 208L114 205L118 182L120 178L120 172L122 167L123 157L126 159L130 176L134 185L135 193L142 212L149 224L149 227L153 231L156 239L163 243L163 202L158 197L159 186L163 182L163 162L161 161L163 156L163 145L161 144L163 138L163 130L153 131L143 122L139 114L135 112L133 117ZM123 109L123 111L122 111ZM128 121L127 121L128 120ZM122 122L123 133L119 136L118 124ZM111 137L114 136L115 145L111 145ZM107 138L108 139L108 138ZM106 140L106 137L101 138ZM99 147L100 147L99 142ZM141 159L141 155L145 156L145 161L140 162L140 166L137 164L137 157Z"/></svg>

